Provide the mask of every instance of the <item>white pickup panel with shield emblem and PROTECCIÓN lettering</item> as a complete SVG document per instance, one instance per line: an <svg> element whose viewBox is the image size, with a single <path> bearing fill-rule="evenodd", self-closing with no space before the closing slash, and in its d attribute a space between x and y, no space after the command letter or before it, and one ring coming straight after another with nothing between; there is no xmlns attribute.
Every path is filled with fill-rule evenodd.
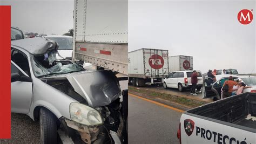
<svg viewBox="0 0 256 144"><path fill-rule="evenodd" d="M228 126L224 121L210 121L201 116L181 115L181 143L255 143L255 133Z"/></svg>

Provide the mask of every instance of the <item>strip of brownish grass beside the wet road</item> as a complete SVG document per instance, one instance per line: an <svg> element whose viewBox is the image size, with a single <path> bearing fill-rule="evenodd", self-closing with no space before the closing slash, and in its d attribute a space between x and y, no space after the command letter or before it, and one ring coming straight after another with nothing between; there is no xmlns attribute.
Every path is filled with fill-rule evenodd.
<svg viewBox="0 0 256 144"><path fill-rule="evenodd" d="M184 97L179 97L177 95L171 95L171 94L166 94L166 93L160 93L160 92L154 92L150 90L143 90L140 88L134 88L134 87L129 87L129 92L137 92L140 94L145 95L147 98L150 99L164 99L170 102L175 102L177 104L185 105L187 107L198 107L201 105L206 104L206 102L203 101L197 101L197 100L192 100Z"/></svg>

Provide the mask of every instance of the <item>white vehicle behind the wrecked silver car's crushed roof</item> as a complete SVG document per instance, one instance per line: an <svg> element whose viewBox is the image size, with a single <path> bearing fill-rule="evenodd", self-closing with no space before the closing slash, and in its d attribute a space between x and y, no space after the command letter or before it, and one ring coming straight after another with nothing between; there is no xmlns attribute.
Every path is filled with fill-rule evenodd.
<svg viewBox="0 0 256 144"><path fill-rule="evenodd" d="M65 59L72 58L73 37L62 36L62 35L39 35L37 37L48 38L48 39L51 39L51 40L57 42L59 45L58 52L59 52L60 56L62 56ZM63 59L62 57L59 57L57 54L57 59Z"/></svg>

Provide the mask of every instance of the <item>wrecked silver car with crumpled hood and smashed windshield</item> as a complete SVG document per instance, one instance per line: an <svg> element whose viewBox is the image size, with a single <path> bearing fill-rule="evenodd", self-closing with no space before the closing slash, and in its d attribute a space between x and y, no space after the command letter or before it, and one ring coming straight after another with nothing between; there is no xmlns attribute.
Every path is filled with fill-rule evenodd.
<svg viewBox="0 0 256 144"><path fill-rule="evenodd" d="M58 129L75 143L123 143L122 92L112 71L87 71L56 59L45 38L11 42L11 112L39 120L41 143L58 143Z"/></svg>

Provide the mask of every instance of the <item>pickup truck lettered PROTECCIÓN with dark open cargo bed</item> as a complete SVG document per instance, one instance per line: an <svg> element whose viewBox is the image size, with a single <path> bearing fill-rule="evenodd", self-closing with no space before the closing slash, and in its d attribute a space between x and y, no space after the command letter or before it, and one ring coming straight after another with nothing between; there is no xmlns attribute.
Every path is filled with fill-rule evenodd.
<svg viewBox="0 0 256 144"><path fill-rule="evenodd" d="M177 137L183 144L256 143L253 116L256 116L256 93L242 93L184 112Z"/></svg>

